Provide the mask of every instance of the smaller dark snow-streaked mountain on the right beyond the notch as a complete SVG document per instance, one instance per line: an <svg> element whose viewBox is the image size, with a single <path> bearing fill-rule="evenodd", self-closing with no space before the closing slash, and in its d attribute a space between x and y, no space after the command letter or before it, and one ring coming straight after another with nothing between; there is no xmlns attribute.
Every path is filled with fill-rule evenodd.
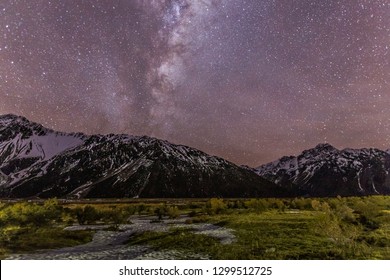
<svg viewBox="0 0 390 280"><path fill-rule="evenodd" d="M256 169L268 180L308 196L390 194L389 171L390 150L338 150L329 144Z"/></svg>

